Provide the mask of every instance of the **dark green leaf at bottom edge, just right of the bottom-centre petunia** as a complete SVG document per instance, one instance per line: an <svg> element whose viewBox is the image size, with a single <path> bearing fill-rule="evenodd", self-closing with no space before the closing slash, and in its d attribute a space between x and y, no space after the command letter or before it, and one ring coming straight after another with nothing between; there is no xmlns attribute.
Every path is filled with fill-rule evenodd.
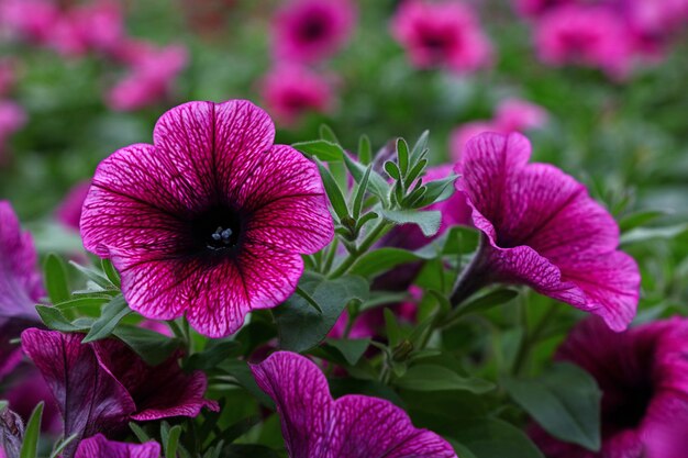
<svg viewBox="0 0 688 458"><path fill-rule="evenodd" d="M497 418L455 424L452 436L478 458L544 458L521 429Z"/></svg>

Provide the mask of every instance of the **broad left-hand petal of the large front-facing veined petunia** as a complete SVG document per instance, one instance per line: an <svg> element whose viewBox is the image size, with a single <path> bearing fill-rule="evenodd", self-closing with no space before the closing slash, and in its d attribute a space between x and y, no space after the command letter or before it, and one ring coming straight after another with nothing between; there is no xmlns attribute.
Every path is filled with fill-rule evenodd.
<svg viewBox="0 0 688 458"><path fill-rule="evenodd" d="M84 246L102 257L138 249L148 258L188 244L184 215L203 198L151 145L132 145L96 170L81 213Z"/></svg>

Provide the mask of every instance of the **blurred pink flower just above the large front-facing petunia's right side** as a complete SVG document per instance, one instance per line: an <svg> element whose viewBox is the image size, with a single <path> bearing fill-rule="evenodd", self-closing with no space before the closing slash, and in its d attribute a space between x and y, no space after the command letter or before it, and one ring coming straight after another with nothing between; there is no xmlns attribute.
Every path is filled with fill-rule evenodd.
<svg viewBox="0 0 688 458"><path fill-rule="evenodd" d="M260 82L267 110L284 124L292 124L307 112L326 113L334 107L328 78L299 65L282 64Z"/></svg>

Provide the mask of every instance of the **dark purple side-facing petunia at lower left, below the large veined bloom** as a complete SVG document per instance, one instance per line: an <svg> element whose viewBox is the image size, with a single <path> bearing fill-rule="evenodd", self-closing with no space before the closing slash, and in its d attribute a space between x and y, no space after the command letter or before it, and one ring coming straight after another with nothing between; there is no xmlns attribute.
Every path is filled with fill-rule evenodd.
<svg viewBox="0 0 688 458"><path fill-rule="evenodd" d="M203 372L185 373L178 355L151 367L116 339L81 344L84 334L26 329L22 347L51 388L65 422L65 437L115 434L127 422L197 416L202 407ZM66 456L76 449L70 445Z"/></svg>

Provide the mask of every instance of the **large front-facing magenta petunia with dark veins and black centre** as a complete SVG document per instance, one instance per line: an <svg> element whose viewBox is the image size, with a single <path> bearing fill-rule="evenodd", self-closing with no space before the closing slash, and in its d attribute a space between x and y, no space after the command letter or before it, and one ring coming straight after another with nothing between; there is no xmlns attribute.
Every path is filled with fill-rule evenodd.
<svg viewBox="0 0 688 458"><path fill-rule="evenodd" d="M291 295L301 254L334 236L318 169L273 145L271 120L247 101L182 104L153 136L98 167L84 245L112 259L142 315L186 313L207 336L231 334L252 310Z"/></svg>

